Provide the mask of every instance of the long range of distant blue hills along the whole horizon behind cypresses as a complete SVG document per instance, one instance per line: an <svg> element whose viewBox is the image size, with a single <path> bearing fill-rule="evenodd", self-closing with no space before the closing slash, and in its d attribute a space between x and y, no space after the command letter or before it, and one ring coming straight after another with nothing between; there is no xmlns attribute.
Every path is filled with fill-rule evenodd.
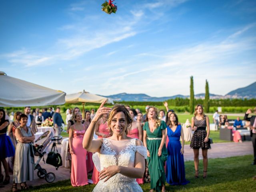
<svg viewBox="0 0 256 192"><path fill-rule="evenodd" d="M115 95L104 96L114 99L115 101L165 101L168 99L179 98L189 98L188 95L174 95L168 97L150 97L146 94L128 94L128 93L120 93ZM196 94L194 96L196 99L201 98L204 99L204 93ZM256 98L256 82L250 84L244 88L239 88L234 91L229 92L225 96L210 94L211 99L223 99L223 98Z"/></svg>

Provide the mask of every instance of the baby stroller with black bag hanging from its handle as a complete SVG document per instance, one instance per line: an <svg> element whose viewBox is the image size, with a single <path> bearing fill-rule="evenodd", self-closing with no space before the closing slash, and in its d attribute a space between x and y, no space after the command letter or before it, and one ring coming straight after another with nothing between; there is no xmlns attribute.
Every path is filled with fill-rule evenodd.
<svg viewBox="0 0 256 192"><path fill-rule="evenodd" d="M44 154L46 154L49 146L52 144L52 150L48 154L48 158L46 160L46 163L54 165L56 167L56 170L58 169L59 166L62 166L62 159L61 159L60 154L58 154L58 150L56 148L56 141L61 140L61 139L62 139L62 136L53 136L52 132L46 131L46 132L44 132L44 134L42 134L42 136L40 136L35 141L35 145L33 147L34 155L39 156L37 162L34 165L34 169L38 170L37 176L39 178L45 178L45 180L48 183L51 183L55 180L55 174L52 173L52 172L47 173L47 171L40 166L39 162L42 158L43 158L43 161L44 161ZM39 143L39 142L42 142L42 144L38 145L37 143ZM53 156L55 157L54 162L52 161L51 158L49 159L49 156L50 157L53 157ZM44 163L45 163L45 161L44 161Z"/></svg>

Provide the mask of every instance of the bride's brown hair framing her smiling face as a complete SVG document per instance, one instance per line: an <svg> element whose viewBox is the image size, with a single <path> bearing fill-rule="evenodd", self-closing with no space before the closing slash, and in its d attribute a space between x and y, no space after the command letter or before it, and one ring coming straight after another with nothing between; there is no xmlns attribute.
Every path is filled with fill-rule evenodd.
<svg viewBox="0 0 256 192"><path fill-rule="evenodd" d="M126 121L126 130L125 130L125 133L126 135L128 134L128 130L131 128L132 126L132 117L130 116L130 113L128 111L128 109L122 105L122 104L116 104L114 105L114 107L112 108L110 114L108 115L108 130L110 132L110 134L112 135L113 132L111 130L111 121L112 121L112 118L118 113L118 112L123 112L124 113L124 116L125 116L125 121Z"/></svg>

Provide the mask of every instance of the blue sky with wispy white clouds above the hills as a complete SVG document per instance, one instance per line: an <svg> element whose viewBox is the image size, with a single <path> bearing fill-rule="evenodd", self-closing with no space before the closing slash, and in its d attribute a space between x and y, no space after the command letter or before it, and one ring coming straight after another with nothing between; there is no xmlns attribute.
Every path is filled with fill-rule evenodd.
<svg viewBox="0 0 256 192"><path fill-rule="evenodd" d="M0 2L0 71L67 94L224 95L256 81L255 0Z"/></svg>

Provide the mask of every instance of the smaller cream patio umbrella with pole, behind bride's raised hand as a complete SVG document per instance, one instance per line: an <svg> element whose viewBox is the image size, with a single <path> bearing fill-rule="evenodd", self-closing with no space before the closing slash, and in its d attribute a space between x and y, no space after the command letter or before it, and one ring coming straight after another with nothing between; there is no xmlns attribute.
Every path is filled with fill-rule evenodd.
<svg viewBox="0 0 256 192"><path fill-rule="evenodd" d="M86 91L66 95L66 103L82 102L82 104L83 104L83 110L82 110L83 118L84 118L84 104L85 103L102 103L106 99L107 99L107 103L114 104L114 102L111 98L98 96L98 95L91 94L91 93L86 92Z"/></svg>

